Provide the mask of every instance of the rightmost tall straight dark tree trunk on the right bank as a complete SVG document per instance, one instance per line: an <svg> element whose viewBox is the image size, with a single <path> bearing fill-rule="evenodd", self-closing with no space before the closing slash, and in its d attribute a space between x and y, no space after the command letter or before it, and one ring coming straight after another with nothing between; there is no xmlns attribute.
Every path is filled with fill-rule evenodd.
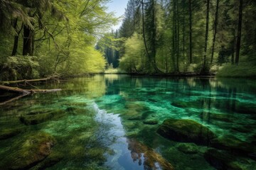
<svg viewBox="0 0 256 170"><path fill-rule="evenodd" d="M238 65L241 45L241 34L242 34L242 0L239 4L239 19L238 19L238 41L236 45L235 64Z"/></svg>

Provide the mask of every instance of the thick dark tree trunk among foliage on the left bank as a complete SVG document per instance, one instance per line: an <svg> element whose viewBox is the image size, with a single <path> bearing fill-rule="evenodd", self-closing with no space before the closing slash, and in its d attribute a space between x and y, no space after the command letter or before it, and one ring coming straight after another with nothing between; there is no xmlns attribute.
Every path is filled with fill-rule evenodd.
<svg viewBox="0 0 256 170"><path fill-rule="evenodd" d="M33 56L34 32L28 26L23 27L23 55Z"/></svg>

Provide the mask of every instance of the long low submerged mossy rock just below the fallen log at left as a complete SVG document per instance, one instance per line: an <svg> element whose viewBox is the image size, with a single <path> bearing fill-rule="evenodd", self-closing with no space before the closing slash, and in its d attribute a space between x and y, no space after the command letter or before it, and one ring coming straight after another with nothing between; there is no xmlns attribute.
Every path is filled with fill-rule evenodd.
<svg viewBox="0 0 256 170"><path fill-rule="evenodd" d="M21 123L25 125L37 125L39 123L46 122L52 118L60 118L63 116L63 111L48 111L46 113L28 113L27 115L21 115Z"/></svg>

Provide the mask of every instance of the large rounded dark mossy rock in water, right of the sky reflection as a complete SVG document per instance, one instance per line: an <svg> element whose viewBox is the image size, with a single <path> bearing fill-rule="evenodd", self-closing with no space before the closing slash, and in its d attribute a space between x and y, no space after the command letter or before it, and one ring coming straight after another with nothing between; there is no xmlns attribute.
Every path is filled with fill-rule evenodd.
<svg viewBox="0 0 256 170"><path fill-rule="evenodd" d="M210 129L194 120L164 120L157 132L169 140L194 142L199 145L208 145L215 138Z"/></svg>

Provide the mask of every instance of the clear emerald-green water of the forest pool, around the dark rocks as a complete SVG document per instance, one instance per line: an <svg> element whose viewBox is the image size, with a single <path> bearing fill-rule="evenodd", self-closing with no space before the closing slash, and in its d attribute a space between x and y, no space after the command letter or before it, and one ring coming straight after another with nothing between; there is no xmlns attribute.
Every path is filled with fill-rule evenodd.
<svg viewBox="0 0 256 170"><path fill-rule="evenodd" d="M26 169L225 169L206 161L209 146L193 145L195 153L183 152L181 142L157 134L169 118L195 120L218 137L232 136L255 149L255 80L95 75L40 86L63 91L0 106L1 130L22 129L0 140L0 169L9 169L6 159L16 160L16 143L37 132L48 133L55 143L48 157ZM36 125L21 122L24 115L49 112L61 114ZM242 169L256 167L253 155L232 157Z"/></svg>

